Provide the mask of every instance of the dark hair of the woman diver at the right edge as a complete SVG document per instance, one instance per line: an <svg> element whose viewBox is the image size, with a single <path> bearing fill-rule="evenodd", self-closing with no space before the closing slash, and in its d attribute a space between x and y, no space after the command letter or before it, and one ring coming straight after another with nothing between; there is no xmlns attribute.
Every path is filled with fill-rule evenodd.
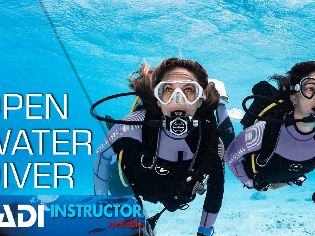
<svg viewBox="0 0 315 236"><path fill-rule="evenodd" d="M295 64L291 70L286 72L286 76L273 75L268 77L269 80L273 80L278 84L280 98L283 99L287 107L291 110L294 109L293 103L290 101L290 95L297 91L292 91L290 85L300 84L300 81L308 74L315 71L315 61L305 61ZM285 88L285 89L284 89Z"/></svg>

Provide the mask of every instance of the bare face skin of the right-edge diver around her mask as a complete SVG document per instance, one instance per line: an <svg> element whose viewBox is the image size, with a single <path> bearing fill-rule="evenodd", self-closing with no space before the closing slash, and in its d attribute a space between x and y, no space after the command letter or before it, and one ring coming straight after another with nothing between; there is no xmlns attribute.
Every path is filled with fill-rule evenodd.
<svg viewBox="0 0 315 236"><path fill-rule="evenodd" d="M305 77L315 78L315 71ZM304 85L303 85L304 86ZM304 98L300 92L291 95L291 101L296 104L294 114L296 118L309 116L310 112L315 113L315 96L311 99Z"/></svg>

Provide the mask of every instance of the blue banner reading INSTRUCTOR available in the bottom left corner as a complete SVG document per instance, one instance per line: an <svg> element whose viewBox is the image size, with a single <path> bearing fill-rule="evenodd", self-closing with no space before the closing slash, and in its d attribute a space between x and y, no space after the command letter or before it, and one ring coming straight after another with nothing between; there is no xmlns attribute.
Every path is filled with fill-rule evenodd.
<svg viewBox="0 0 315 236"><path fill-rule="evenodd" d="M2 195L1 235L152 235L133 195Z"/></svg>

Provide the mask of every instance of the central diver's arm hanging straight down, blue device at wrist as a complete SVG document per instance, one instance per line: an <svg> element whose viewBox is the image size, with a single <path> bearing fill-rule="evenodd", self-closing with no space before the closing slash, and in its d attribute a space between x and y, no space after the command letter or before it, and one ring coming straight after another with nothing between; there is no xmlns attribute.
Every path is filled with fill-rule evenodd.
<svg viewBox="0 0 315 236"><path fill-rule="evenodd" d="M203 204L203 211L200 220L201 228L199 228L198 231L199 235L207 235L203 232L207 232L207 229L213 227L222 204L224 192L225 163L224 147L221 139L219 140L218 154L219 155L215 160L214 166L209 173L207 193Z"/></svg>

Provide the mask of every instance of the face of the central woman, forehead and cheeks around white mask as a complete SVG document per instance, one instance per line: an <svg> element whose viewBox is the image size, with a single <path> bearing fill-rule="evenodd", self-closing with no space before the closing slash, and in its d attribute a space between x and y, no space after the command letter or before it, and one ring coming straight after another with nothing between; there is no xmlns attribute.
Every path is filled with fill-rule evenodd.
<svg viewBox="0 0 315 236"><path fill-rule="evenodd" d="M176 67L172 70L166 72L162 78L162 81L166 80L192 80L197 81L194 74L192 74L189 70ZM169 99L169 96L172 95L176 88L180 88L186 95L188 101L193 100L195 91L192 91L194 88L193 86L189 86L186 83L184 84L170 84L169 86L165 86L165 91L163 93L163 101L166 102ZM191 96L191 98L190 98ZM196 110L201 106L202 100L199 98L196 103L189 105L186 101L182 103L174 103L173 100L169 102L167 105L161 104L157 101L157 105L161 107L163 115L171 116L173 111L184 111L186 112L185 117L188 115L195 115Z"/></svg>

